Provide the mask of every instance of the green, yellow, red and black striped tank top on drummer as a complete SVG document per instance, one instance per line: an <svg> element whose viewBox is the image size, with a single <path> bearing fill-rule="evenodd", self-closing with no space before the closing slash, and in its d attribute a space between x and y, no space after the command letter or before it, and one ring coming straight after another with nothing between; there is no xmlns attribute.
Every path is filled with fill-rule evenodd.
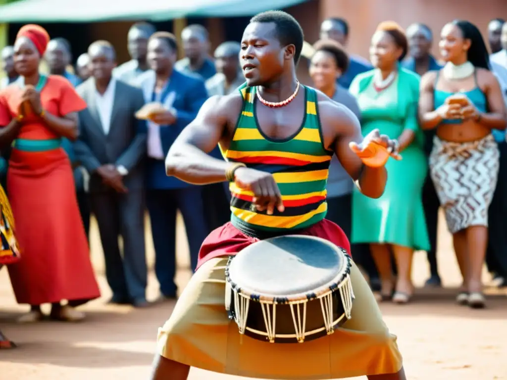
<svg viewBox="0 0 507 380"><path fill-rule="evenodd" d="M231 222L240 231L283 234L307 228L325 217L328 210L326 185L333 151L324 148L317 112L317 93L305 91L306 113L301 128L286 139L273 139L259 128L255 110L256 88L239 88L243 108L229 149L223 151L229 162L273 174L285 210L273 215L257 211L253 193L230 184Z"/></svg>

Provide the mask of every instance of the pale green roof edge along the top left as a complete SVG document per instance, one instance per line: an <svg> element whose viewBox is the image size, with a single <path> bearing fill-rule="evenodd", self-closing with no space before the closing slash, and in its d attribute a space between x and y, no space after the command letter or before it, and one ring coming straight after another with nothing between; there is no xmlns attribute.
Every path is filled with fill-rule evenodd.
<svg viewBox="0 0 507 380"><path fill-rule="evenodd" d="M163 21L251 16L309 0L19 0L0 7L0 22Z"/></svg>

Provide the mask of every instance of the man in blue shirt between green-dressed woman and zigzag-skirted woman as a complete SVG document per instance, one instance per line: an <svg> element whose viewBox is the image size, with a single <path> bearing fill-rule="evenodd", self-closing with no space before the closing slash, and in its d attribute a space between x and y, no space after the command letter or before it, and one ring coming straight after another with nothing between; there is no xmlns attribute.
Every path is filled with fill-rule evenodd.
<svg viewBox="0 0 507 380"><path fill-rule="evenodd" d="M410 45L410 56L402 62L402 66L408 70L414 71L419 75L425 74L430 70L440 70L441 65L429 53L433 43L433 34L431 29L424 24L415 23L407 28L407 38ZM433 137L436 129L425 132L424 150L426 157L429 157L433 148ZM437 267L437 226L439 218L440 201L429 174L426 176L422 189L422 202L424 214L426 215L426 228L428 230L431 250L427 254L430 269L430 278L426 281L429 286L441 286L442 282Z"/></svg>

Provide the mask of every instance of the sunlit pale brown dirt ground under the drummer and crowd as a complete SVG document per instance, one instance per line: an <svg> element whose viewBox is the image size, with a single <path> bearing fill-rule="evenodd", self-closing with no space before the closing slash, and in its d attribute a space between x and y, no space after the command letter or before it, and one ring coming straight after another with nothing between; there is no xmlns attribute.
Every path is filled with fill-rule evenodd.
<svg viewBox="0 0 507 380"><path fill-rule="evenodd" d="M453 288L459 284L460 276L450 237L442 218L441 221L439 264L446 289L418 289L414 301L406 306L381 305L386 323L398 336L408 378L507 379L507 297L505 293L493 292L486 310L473 311L454 305ZM92 234L92 258L102 297L83 308L88 313L83 323L16 324L15 318L27 309L16 305L7 271L0 272L0 328L19 346L16 350L0 351L0 379L148 379L157 328L169 317L173 305L167 303L145 310L105 305L111 292L103 277L102 249L95 223ZM147 248L149 262L153 263L151 236ZM181 222L178 260L178 284L183 287L190 272ZM416 285L423 284L427 273L424 253L417 252L413 274ZM487 275L485 280L489 280ZM153 273L148 295L157 296ZM196 369L191 371L190 379L241 380Z"/></svg>

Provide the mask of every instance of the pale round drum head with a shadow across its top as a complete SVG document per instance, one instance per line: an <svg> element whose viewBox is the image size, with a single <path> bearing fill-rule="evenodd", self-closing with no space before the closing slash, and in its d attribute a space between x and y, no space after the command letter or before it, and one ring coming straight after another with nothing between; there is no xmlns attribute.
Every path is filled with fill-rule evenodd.
<svg viewBox="0 0 507 380"><path fill-rule="evenodd" d="M346 269L344 254L327 240L289 235L261 240L238 253L229 279L263 296L305 295L332 282Z"/></svg>

